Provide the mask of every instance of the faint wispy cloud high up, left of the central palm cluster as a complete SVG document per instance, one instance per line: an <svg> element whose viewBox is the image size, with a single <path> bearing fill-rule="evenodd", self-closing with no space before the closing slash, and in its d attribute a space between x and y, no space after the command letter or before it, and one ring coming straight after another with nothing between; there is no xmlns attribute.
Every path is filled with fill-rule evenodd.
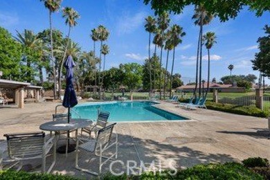
<svg viewBox="0 0 270 180"><path fill-rule="evenodd" d="M132 33L136 28L143 26L143 22L145 21L146 13L138 12L135 15L123 15L118 19L118 23L116 24L116 32L118 35Z"/></svg>

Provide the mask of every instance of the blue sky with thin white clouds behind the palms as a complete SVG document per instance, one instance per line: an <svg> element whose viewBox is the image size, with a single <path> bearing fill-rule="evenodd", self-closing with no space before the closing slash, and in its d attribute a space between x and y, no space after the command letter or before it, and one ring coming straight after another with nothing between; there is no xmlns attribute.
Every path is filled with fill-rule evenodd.
<svg viewBox="0 0 270 180"><path fill-rule="evenodd" d="M62 7L72 7L80 14L78 26L71 30L71 39L78 42L83 51L93 50L90 38L91 29L100 24L109 30L110 52L107 55L105 69L120 63L137 62L143 64L148 56L148 33L145 31L145 17L154 16L154 10L145 6L143 0L64 0ZM197 39L199 27L192 21L194 7L188 6L181 15L170 15L170 24L183 27L186 36L182 44L176 49L174 72L180 73L185 80L194 80L196 71ZM244 8L235 19L219 22L213 19L210 25L204 27L204 33L215 32L217 44L210 50L211 71L210 79L219 80L224 75L229 75L228 65L233 64L234 75L247 75L258 72L252 70L250 60L258 52L258 37L264 36L262 28L269 24L270 13L265 12L262 17L255 17L255 12ZM48 28L48 10L44 3L38 0L1 0L0 1L0 26L16 35L16 30L33 30L35 33ZM53 14L53 28L67 34L68 26L64 24L62 12ZM97 49L99 45L97 46ZM151 46L152 53L154 46ZM159 53L159 52L158 52ZM165 53L163 53L165 64ZM207 78L207 51L203 52L202 78ZM169 59L169 70L172 55Z"/></svg>

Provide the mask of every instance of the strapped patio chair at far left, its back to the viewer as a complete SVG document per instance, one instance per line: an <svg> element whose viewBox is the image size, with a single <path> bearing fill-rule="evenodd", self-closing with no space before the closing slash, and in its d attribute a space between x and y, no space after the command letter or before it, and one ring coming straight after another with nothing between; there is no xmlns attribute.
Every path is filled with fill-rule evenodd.
<svg viewBox="0 0 270 180"><path fill-rule="evenodd" d="M4 152L0 152L0 170L3 163L12 163L10 167L19 164L17 170L22 167L22 161L42 159L42 172L51 172L56 159L56 142L54 137L46 141L44 132L32 132L24 134L5 134L8 143L8 157L5 159ZM46 171L46 156L53 147L53 162ZM1 160L2 159L2 160Z"/></svg>

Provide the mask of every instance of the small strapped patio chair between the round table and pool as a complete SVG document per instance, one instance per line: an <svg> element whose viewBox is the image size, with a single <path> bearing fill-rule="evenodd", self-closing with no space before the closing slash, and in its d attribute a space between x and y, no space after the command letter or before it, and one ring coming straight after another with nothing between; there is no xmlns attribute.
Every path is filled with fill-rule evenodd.
<svg viewBox="0 0 270 180"><path fill-rule="evenodd" d="M96 120L96 124L91 125L90 127L82 128L81 135L82 135L82 132L88 133L89 136L91 136L91 132L94 132L96 134L98 130L102 129L103 127L107 125L108 118L109 118L109 112L100 111L98 114L98 119Z"/></svg>

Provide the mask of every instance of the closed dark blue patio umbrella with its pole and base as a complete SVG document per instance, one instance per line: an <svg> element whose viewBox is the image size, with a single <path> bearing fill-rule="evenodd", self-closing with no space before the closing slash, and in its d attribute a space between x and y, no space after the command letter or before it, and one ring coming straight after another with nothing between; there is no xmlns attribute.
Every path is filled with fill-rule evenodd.
<svg viewBox="0 0 270 180"><path fill-rule="evenodd" d="M78 100L76 97L76 93L73 87L73 67L75 63L73 62L73 58L71 55L67 57L66 62L64 63L64 67L66 68L66 89L64 91L64 100L62 105L68 108L68 123L70 122L70 109L78 104ZM69 138L69 132L68 132ZM68 152L72 152L75 150L74 146L69 145L68 139ZM65 147L60 147L58 150L60 153L65 153Z"/></svg>

